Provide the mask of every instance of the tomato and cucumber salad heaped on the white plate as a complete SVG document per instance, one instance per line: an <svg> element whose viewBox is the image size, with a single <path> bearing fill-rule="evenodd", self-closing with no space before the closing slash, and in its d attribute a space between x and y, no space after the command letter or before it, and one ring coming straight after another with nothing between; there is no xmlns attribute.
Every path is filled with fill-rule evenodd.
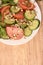
<svg viewBox="0 0 43 65"><path fill-rule="evenodd" d="M0 0L0 38L29 37L40 25L36 16L35 5L28 0Z"/></svg>

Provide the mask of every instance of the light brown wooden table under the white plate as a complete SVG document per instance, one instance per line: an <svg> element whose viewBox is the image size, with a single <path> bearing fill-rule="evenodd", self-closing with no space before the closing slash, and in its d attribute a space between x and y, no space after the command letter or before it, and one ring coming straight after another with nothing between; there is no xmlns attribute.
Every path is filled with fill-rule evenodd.
<svg viewBox="0 0 43 65"><path fill-rule="evenodd" d="M43 1L38 3L43 16ZM39 32L27 44L8 46L0 43L0 65L43 65L43 17Z"/></svg>

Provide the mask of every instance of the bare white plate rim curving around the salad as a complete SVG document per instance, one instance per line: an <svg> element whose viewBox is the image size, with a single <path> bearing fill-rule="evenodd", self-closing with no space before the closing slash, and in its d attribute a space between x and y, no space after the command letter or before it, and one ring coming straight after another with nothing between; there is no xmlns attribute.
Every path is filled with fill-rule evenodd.
<svg viewBox="0 0 43 65"><path fill-rule="evenodd" d="M40 22L41 22L41 11L40 11L40 8L38 6L38 4L35 2L34 3L36 8L36 12L37 12L37 17ZM40 28L40 27L39 27ZM4 43L4 44L7 44L7 45L20 45L20 44L25 44L27 43L28 41L30 41L35 35L36 33L38 32L39 28L37 30L35 30L31 36L27 37L26 39L22 38L20 40L4 40L4 39L0 39L0 42Z"/></svg>

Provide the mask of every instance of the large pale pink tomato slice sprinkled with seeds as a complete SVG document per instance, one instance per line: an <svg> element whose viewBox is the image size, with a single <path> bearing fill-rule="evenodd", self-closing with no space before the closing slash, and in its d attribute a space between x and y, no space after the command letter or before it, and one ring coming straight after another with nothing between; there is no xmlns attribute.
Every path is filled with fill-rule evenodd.
<svg viewBox="0 0 43 65"><path fill-rule="evenodd" d="M13 27L6 27L7 34L10 38L19 40L23 37L23 30L21 28Z"/></svg>

